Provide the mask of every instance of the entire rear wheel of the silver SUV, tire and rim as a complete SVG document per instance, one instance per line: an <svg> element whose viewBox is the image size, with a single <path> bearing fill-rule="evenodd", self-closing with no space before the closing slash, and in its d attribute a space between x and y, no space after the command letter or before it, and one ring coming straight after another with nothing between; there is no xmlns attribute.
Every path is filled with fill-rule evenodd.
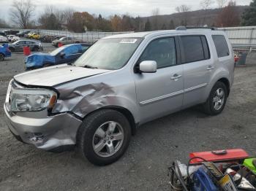
<svg viewBox="0 0 256 191"><path fill-rule="evenodd" d="M227 87L223 82L216 82L205 104L203 111L209 115L220 114L227 101Z"/></svg>

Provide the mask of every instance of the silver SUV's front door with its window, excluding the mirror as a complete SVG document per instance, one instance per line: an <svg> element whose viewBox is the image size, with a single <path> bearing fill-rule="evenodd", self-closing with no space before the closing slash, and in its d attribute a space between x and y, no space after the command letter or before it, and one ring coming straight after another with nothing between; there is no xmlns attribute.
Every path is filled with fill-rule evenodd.
<svg viewBox="0 0 256 191"><path fill-rule="evenodd" d="M176 112L182 107L184 77L183 66L176 47L176 37L151 41L140 56L142 61L156 61L156 73L135 74L135 85L141 121L147 122Z"/></svg>

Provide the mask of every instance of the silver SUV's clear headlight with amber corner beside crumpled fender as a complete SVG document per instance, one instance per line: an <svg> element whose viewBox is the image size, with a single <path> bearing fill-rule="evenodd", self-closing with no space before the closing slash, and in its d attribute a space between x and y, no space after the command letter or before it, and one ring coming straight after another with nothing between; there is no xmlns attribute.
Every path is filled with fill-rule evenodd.
<svg viewBox="0 0 256 191"><path fill-rule="evenodd" d="M10 94L12 112L37 112L52 109L56 100L56 93L45 89L12 88Z"/></svg>

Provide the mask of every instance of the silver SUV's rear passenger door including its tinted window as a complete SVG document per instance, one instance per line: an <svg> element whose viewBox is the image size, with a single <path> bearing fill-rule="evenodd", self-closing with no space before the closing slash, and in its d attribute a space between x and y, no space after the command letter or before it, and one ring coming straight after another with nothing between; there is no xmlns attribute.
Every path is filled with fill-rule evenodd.
<svg viewBox="0 0 256 191"><path fill-rule="evenodd" d="M214 74L214 59L206 35L179 36L184 65L184 108L206 101L207 85Z"/></svg>

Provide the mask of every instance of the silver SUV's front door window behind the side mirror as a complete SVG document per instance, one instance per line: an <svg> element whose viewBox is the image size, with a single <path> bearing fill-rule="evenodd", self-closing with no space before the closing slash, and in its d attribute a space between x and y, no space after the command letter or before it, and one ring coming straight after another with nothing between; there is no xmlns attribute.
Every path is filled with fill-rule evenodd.
<svg viewBox="0 0 256 191"><path fill-rule="evenodd" d="M176 46L174 38L156 39L148 44L139 62L156 61L157 69L176 65Z"/></svg>

